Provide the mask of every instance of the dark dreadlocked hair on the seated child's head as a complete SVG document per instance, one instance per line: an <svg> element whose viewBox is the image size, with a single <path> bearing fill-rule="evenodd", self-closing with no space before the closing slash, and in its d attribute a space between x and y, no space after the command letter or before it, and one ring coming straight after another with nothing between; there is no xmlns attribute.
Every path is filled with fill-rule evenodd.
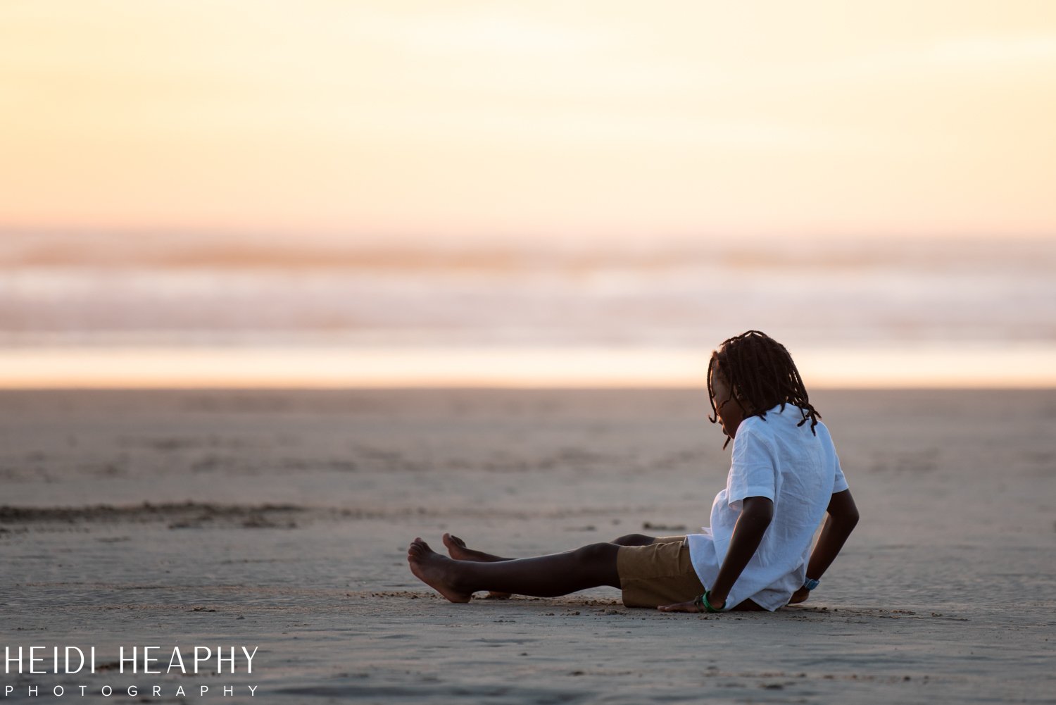
<svg viewBox="0 0 1056 705"><path fill-rule="evenodd" d="M747 331L723 340L719 349L712 353L708 363L708 396L712 404L712 415L708 420L713 424L718 421L715 390L712 387L712 375L715 372L721 373L730 384L737 404L746 409L746 418L766 419L767 409L780 404L784 411L785 405L791 404L798 407L803 414L803 420L796 426L803 426L810 420L810 432L817 435L814 427L822 414L810 403L799 370L785 346L766 333ZM729 443L730 437L727 437L722 447L725 448Z"/></svg>

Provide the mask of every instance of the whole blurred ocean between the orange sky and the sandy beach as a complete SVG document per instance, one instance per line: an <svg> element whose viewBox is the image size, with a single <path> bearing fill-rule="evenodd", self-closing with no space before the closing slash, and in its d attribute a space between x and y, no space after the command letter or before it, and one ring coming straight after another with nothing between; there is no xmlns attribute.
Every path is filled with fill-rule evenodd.
<svg viewBox="0 0 1056 705"><path fill-rule="evenodd" d="M675 384L748 329L797 358L800 351L822 383L926 386L930 374L949 386L993 374L981 386L1052 384L1056 242L31 234L7 238L0 252L0 354L23 366L140 351L241 367L232 360L266 351L291 369L313 355L352 368L337 375L341 384L370 384L371 365L397 358L408 384L487 382L494 370L543 384L547 369L569 384L574 369L589 383L607 355L614 379ZM923 381L911 379L913 359ZM542 369L518 373L525 360ZM164 382L164 366L156 372Z"/></svg>

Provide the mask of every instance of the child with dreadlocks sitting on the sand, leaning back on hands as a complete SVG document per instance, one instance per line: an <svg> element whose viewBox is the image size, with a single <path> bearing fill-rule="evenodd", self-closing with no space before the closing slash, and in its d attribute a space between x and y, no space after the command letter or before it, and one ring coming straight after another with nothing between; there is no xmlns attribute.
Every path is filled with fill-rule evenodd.
<svg viewBox="0 0 1056 705"><path fill-rule="evenodd" d="M445 534L452 558L416 538L411 572L452 602L478 590L553 597L598 586L621 589L627 607L665 612L773 611L804 601L859 520L829 431L788 351L759 331L712 353L708 393L709 421L721 425L725 444L733 440L733 459L702 534L633 534L520 559L471 551Z"/></svg>

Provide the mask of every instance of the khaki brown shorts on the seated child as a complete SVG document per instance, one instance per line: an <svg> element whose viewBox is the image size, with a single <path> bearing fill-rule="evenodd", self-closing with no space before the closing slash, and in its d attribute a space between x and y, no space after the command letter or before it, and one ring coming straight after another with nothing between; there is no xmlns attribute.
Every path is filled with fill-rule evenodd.
<svg viewBox="0 0 1056 705"><path fill-rule="evenodd" d="M664 536L649 545L621 545L616 571L627 607L686 602L704 592L684 536Z"/></svg>

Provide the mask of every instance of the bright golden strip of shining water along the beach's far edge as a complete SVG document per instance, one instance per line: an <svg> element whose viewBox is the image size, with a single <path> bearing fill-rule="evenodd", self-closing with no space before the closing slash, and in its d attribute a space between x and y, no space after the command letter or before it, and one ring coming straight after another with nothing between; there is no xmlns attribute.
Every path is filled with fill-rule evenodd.
<svg viewBox="0 0 1056 705"><path fill-rule="evenodd" d="M7 348L0 389L692 389L680 348ZM1056 344L797 350L808 389L1052 389Z"/></svg>

